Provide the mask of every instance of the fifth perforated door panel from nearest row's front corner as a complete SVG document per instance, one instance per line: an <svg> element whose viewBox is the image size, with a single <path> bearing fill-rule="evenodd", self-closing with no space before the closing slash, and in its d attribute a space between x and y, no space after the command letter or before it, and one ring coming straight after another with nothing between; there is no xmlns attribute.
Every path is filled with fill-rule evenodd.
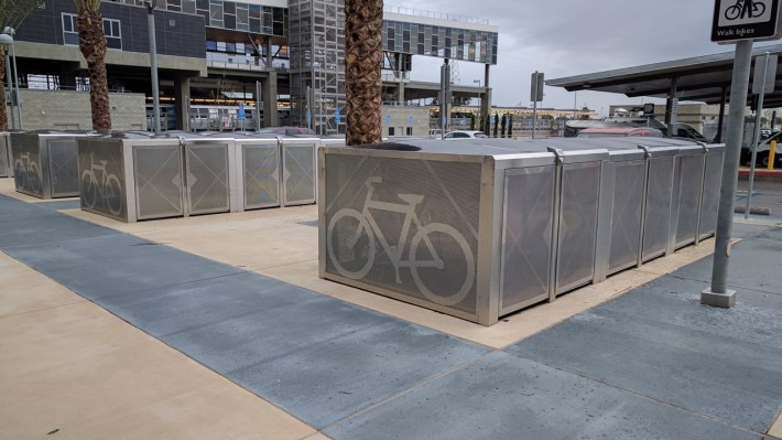
<svg viewBox="0 0 782 440"><path fill-rule="evenodd" d="M695 242L700 211L700 190L704 173L704 157L682 155L676 160L678 178L678 221L675 247Z"/></svg>

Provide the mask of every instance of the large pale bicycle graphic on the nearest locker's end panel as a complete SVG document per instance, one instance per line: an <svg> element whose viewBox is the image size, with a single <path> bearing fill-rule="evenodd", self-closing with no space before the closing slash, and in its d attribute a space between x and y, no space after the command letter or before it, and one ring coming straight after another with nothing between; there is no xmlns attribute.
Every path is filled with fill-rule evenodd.
<svg viewBox="0 0 782 440"><path fill-rule="evenodd" d="M346 278L362 279L369 273L374 264L377 239L394 267L398 283L402 282L400 268L406 267L410 268L415 286L428 300L443 305L459 303L467 297L475 281L475 257L467 240L453 226L443 223L430 223L426 225L421 223L417 214L415 214L415 207L424 200L423 195L399 194L399 198L405 203L372 200L374 185L381 182L382 178L380 176L367 179L365 184L368 191L361 212L349 207L341 208L337 211L329 222L327 248L335 268ZM378 226L378 222L372 215L372 210L404 214L404 221L402 222L402 228L395 246L389 244L383 230ZM412 240L410 240L408 259L404 259L403 254L411 233L411 226L414 226L416 232ZM337 243L334 242L335 234L336 238L338 238ZM337 249L339 255L337 255ZM420 255L420 249L424 250L425 254ZM427 269L436 269L438 271L448 269L445 260L438 255L438 250L443 251L444 249L450 250L449 268L456 267L457 269L445 273L437 272L436 276L425 272ZM357 267L346 267L350 262L357 262L355 265ZM464 270L461 270L463 265ZM456 280L456 286L459 288L454 289L454 291L436 293L437 289L434 286L443 285L444 277L447 277L448 282L454 280L454 277L463 277L464 280L461 278ZM427 286L424 281L434 286Z"/></svg>

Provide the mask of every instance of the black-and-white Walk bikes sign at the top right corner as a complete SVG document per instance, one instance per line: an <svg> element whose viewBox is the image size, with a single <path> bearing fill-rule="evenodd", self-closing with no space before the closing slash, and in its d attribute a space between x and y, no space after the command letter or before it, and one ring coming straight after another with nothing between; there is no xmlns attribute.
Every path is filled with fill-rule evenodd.
<svg viewBox="0 0 782 440"><path fill-rule="evenodd" d="M780 0L715 0L712 41L776 40L780 21Z"/></svg>

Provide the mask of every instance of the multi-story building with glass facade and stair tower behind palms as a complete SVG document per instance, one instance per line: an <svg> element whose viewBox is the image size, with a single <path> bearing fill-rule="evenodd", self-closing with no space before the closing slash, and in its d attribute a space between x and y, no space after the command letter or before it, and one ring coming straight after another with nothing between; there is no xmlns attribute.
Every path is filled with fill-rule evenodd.
<svg viewBox="0 0 782 440"><path fill-rule="evenodd" d="M104 1L100 11L109 88L143 93L151 104L145 4ZM344 0L160 0L153 15L160 101L172 105L176 128L192 128L192 106L262 101L264 126L282 116L324 135L345 131ZM387 8L387 93L398 103L436 97L437 84L410 82L412 56L424 55L485 64L484 87L457 84L453 93L488 101L498 31L481 20ZM88 88L72 0L45 0L14 40L21 87Z"/></svg>

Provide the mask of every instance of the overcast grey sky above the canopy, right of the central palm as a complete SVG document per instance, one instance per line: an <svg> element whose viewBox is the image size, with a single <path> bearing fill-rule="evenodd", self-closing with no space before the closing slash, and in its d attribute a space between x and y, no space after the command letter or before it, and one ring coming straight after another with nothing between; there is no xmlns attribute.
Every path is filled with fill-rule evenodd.
<svg viewBox="0 0 782 440"><path fill-rule="evenodd" d="M720 52L710 41L714 0L387 0L385 4L488 19L499 26L491 67L492 104L531 106L530 74L546 79L660 63ZM778 42L754 43L773 44ZM413 79L439 81L438 58L415 56ZM459 62L461 84L484 78L481 64ZM579 107L605 115L612 104L641 98L546 87L543 107ZM647 100L649 101L649 100ZM659 101L659 100L656 100ZM540 104L539 104L540 106Z"/></svg>

